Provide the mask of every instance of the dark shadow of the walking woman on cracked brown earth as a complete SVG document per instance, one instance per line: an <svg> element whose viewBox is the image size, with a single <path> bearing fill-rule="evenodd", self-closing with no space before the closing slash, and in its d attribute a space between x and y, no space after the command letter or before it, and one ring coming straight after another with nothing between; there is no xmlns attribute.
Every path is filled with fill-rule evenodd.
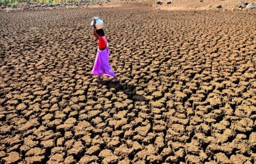
<svg viewBox="0 0 256 164"><path fill-rule="evenodd" d="M133 101L147 101L147 98L136 94L136 86L135 85L129 85L127 83L121 83L119 82L114 82L114 81L108 81L108 80L102 80L98 82L100 85L105 85L107 89L112 89L114 88L114 92L123 92L124 94L127 95L127 98Z"/></svg>

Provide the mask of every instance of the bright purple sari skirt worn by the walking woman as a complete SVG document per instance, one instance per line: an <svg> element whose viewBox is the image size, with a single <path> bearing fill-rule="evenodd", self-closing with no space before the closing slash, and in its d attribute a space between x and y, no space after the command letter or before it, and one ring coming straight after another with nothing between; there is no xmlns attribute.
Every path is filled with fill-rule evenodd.
<svg viewBox="0 0 256 164"><path fill-rule="evenodd" d="M95 65L93 66L92 74L95 75L107 75L110 77L116 77L112 68L109 64L110 51L108 51L108 47L106 49L97 51Z"/></svg>

